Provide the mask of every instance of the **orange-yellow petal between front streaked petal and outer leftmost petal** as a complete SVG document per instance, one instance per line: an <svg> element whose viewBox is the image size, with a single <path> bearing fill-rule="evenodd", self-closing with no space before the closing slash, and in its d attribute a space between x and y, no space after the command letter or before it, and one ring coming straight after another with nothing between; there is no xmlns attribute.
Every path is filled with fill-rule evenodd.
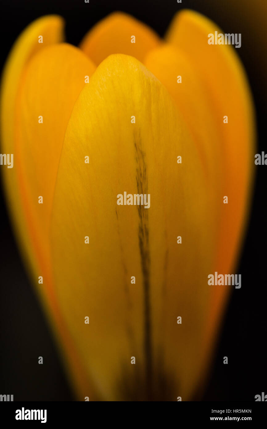
<svg viewBox="0 0 267 429"><path fill-rule="evenodd" d="M38 276L43 277L41 287L37 277L35 284L57 323L60 340L70 351L75 371L77 356L58 309L51 278L50 218L66 125L78 95L87 85L85 76L91 76L94 69L78 48L65 43L49 46L27 64L16 106L14 153L19 194Z"/></svg>

